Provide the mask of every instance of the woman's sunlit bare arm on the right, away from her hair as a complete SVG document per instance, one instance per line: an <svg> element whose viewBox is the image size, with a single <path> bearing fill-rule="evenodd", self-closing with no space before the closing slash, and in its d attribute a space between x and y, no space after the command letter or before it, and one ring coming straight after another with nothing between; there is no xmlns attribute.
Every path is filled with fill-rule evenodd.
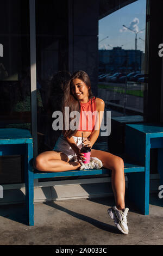
<svg viewBox="0 0 163 256"><path fill-rule="evenodd" d="M87 139L83 139L84 145L88 145L92 148L93 144L97 141L97 138L99 136L100 126L103 119L105 109L105 102L102 99L97 98L96 99L96 110L98 111L97 117L96 117L96 124L95 124L95 130L91 132L91 135L89 136L89 141Z"/></svg>

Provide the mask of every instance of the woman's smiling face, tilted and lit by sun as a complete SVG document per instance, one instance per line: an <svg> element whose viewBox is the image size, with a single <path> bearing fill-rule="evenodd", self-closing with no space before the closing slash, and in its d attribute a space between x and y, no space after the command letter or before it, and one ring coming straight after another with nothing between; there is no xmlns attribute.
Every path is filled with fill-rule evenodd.
<svg viewBox="0 0 163 256"><path fill-rule="evenodd" d="M87 101L89 98L88 87L82 80L78 78L73 80L73 86L71 88L71 92L74 95L74 97L76 97L77 100Z"/></svg>

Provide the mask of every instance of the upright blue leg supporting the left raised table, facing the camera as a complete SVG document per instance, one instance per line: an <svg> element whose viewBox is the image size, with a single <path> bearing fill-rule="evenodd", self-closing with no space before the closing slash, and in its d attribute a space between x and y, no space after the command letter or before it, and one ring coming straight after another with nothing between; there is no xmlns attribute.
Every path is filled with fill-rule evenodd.
<svg viewBox="0 0 163 256"><path fill-rule="evenodd" d="M26 145L25 155L25 185L26 185L26 208L28 225L34 225L34 175L33 175L33 144Z"/></svg>

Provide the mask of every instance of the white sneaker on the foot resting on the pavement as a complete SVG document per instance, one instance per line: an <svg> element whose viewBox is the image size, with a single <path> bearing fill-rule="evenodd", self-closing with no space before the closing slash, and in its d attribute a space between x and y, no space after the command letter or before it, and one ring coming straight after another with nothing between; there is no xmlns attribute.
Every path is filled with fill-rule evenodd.
<svg viewBox="0 0 163 256"><path fill-rule="evenodd" d="M123 233L128 234L128 226L127 226L127 214L129 209L125 208L123 211L118 210L116 206L108 209L108 214L114 220L117 228Z"/></svg>

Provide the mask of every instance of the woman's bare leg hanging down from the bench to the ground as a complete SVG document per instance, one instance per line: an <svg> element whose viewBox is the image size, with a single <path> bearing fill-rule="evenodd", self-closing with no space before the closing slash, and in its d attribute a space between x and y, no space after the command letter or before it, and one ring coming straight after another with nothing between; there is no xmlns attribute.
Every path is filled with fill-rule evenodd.
<svg viewBox="0 0 163 256"><path fill-rule="evenodd" d="M118 210L124 209L125 178L123 160L121 157L96 149L92 149L91 156L97 157L102 161L103 167L112 170L111 185L114 192L116 207Z"/></svg>

